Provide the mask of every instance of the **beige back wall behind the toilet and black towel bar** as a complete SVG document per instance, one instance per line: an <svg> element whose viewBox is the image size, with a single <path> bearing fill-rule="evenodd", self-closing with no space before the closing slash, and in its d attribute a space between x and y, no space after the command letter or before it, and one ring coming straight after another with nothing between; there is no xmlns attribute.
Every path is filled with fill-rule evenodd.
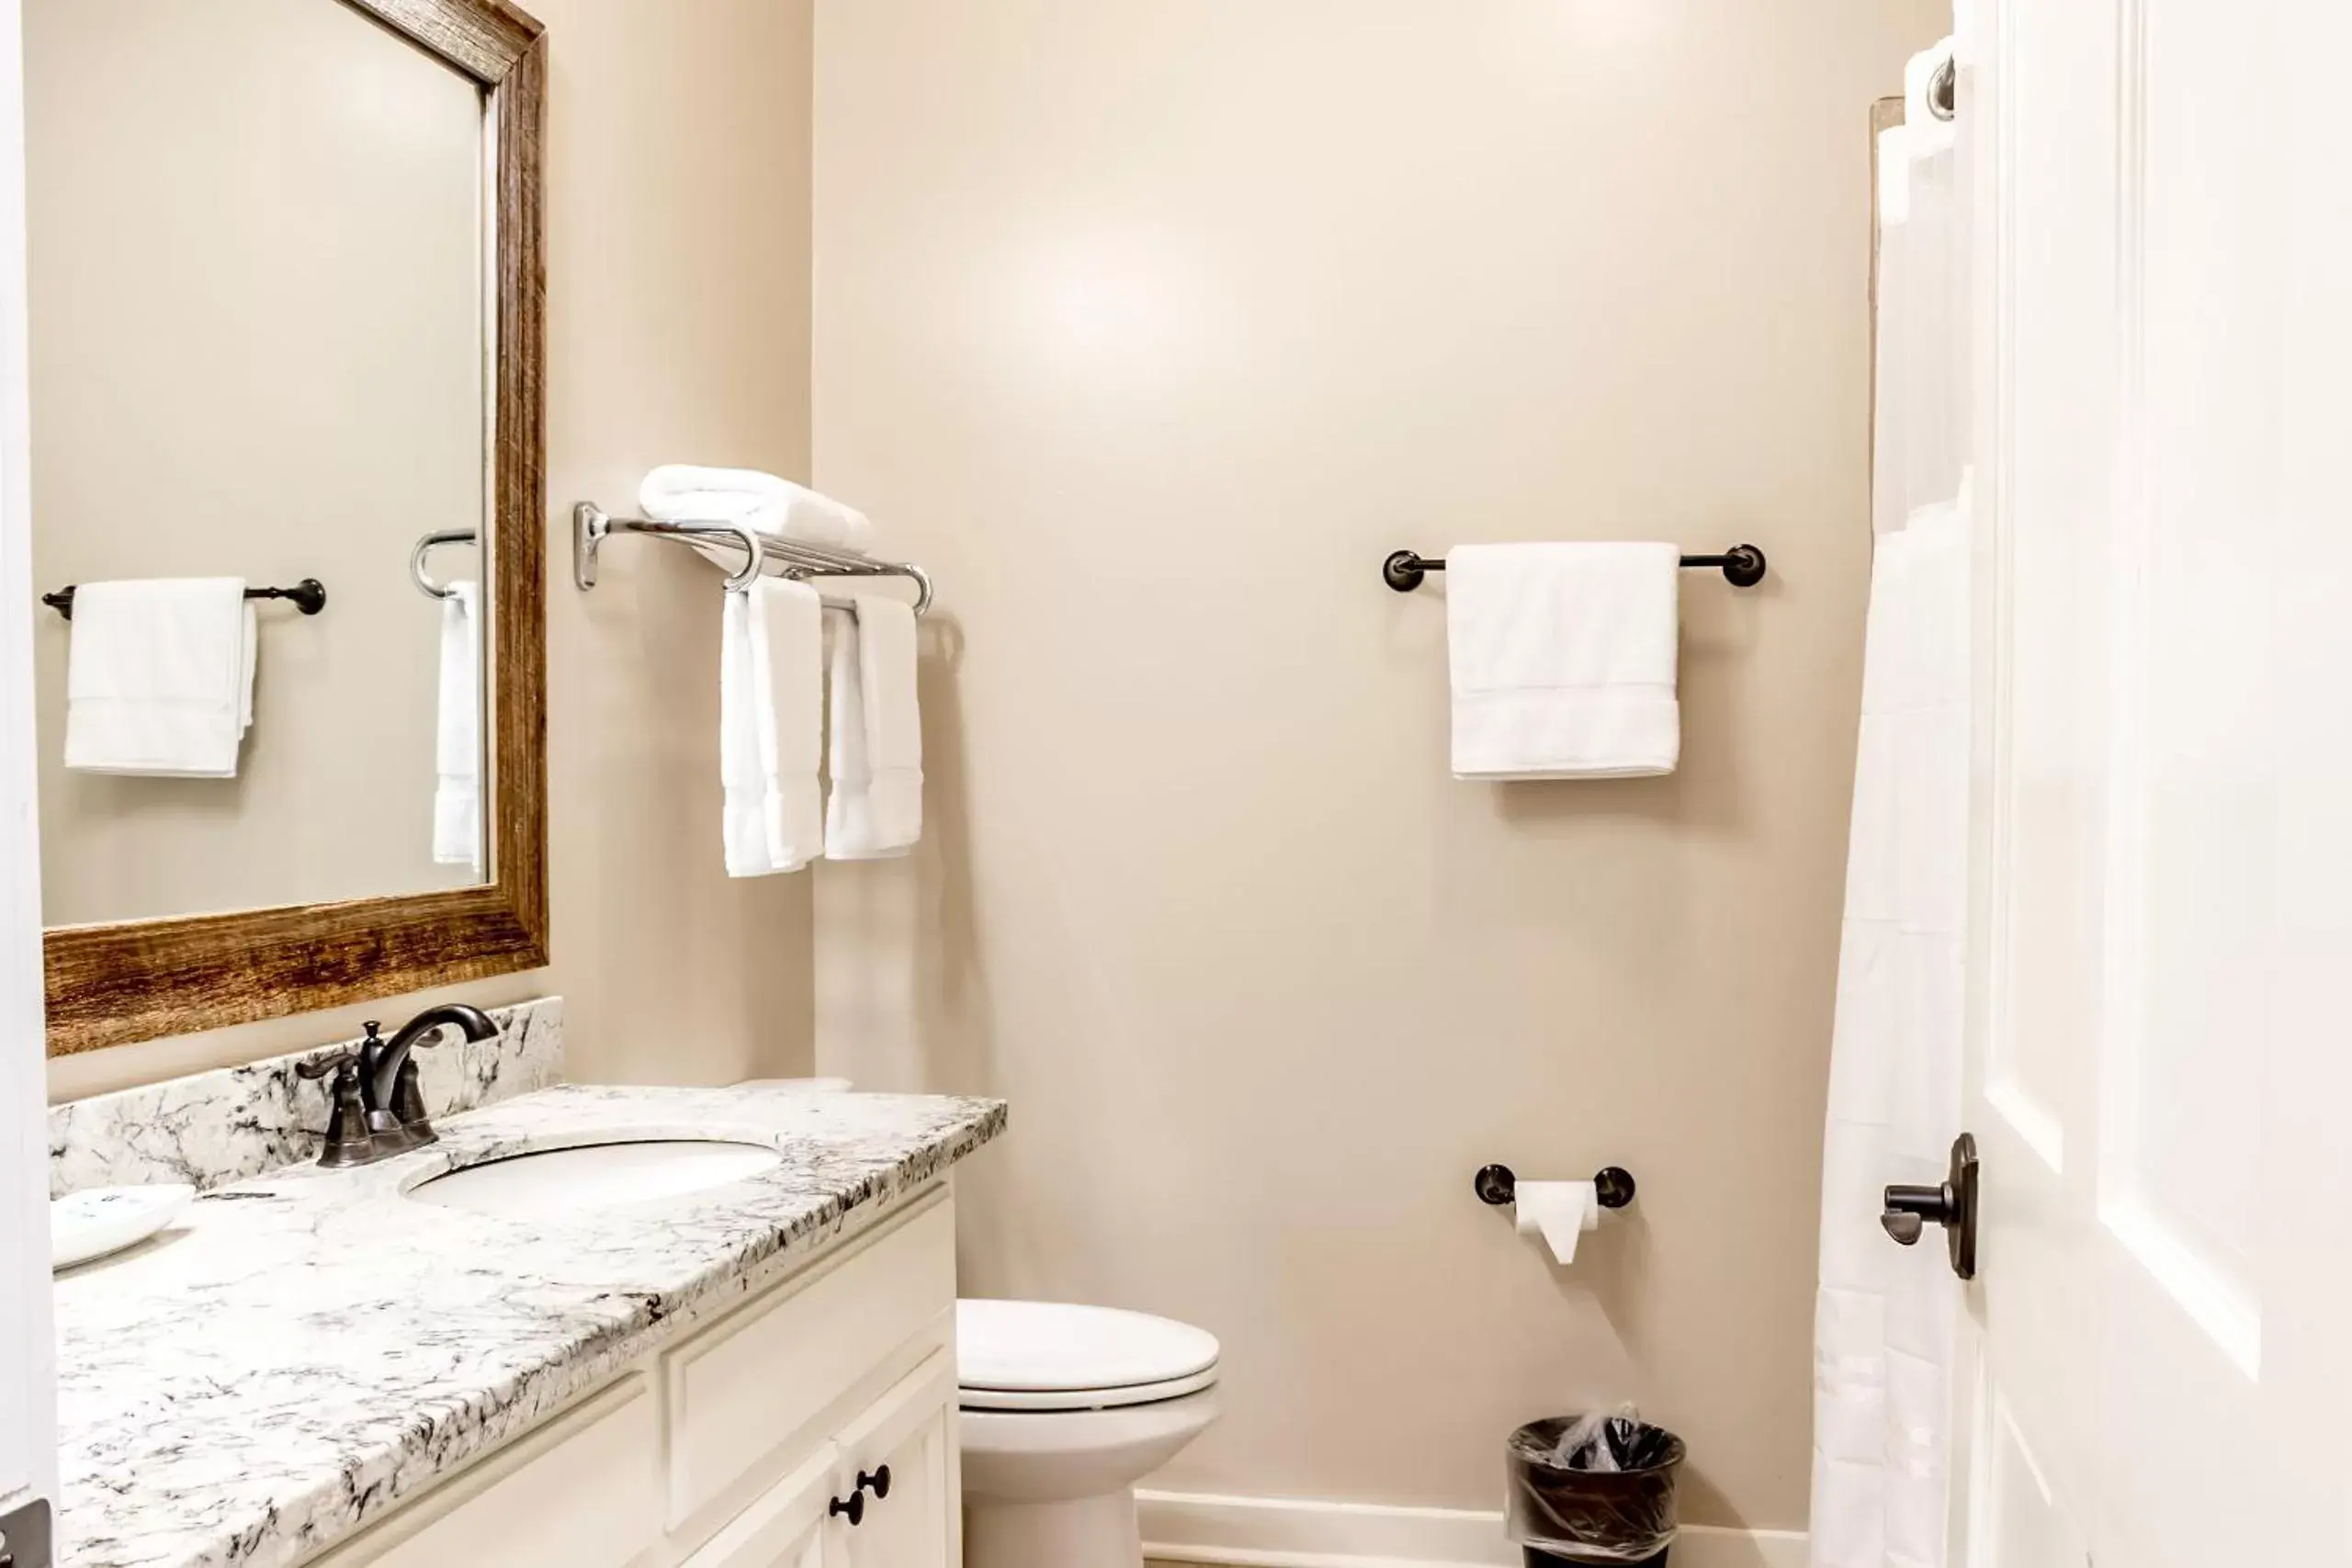
<svg viewBox="0 0 2352 1568"><path fill-rule="evenodd" d="M816 482L950 625L818 1060L1011 1095L967 1288L1223 1338L1164 1483L1494 1507L1637 1399L1689 1519L1802 1526L1867 115L1936 12L821 0ZM1454 783L1381 557L1588 536L1771 552L1684 583L1684 769ZM1491 1159L1642 1197L1555 1274Z"/></svg>

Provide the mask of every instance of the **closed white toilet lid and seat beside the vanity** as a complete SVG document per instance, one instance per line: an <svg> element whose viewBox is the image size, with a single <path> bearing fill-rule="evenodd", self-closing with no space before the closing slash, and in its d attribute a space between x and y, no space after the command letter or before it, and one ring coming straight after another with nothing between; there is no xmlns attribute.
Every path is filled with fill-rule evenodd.
<svg viewBox="0 0 2352 1568"><path fill-rule="evenodd" d="M1065 1302L955 1302L957 1385L969 1406L1105 1408L1216 1382L1216 1335L1143 1312Z"/></svg>

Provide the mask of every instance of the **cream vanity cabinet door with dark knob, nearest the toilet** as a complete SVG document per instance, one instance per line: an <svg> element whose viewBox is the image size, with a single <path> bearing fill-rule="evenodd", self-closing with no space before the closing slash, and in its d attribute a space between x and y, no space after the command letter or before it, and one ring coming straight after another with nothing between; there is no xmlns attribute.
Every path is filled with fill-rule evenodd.
<svg viewBox="0 0 2352 1568"><path fill-rule="evenodd" d="M908 1373L835 1446L840 1495L866 1502L854 1519L835 1519L837 1554L828 1566L955 1568L955 1352L941 1349Z"/></svg>

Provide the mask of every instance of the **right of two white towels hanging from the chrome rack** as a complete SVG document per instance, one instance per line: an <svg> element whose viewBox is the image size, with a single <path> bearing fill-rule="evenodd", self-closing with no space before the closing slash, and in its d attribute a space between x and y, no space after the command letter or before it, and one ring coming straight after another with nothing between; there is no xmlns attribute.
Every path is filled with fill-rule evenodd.
<svg viewBox="0 0 2352 1568"><path fill-rule="evenodd" d="M889 860L922 837L922 710L915 611L851 595L833 625L828 860Z"/></svg>

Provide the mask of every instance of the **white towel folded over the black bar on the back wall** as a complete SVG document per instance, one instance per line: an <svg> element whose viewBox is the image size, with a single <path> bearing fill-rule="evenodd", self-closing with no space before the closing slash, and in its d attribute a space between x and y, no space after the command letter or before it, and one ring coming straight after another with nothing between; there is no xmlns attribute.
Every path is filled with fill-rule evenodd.
<svg viewBox="0 0 2352 1568"><path fill-rule="evenodd" d="M1456 778L1642 778L1682 755L1675 545L1446 555Z"/></svg>

